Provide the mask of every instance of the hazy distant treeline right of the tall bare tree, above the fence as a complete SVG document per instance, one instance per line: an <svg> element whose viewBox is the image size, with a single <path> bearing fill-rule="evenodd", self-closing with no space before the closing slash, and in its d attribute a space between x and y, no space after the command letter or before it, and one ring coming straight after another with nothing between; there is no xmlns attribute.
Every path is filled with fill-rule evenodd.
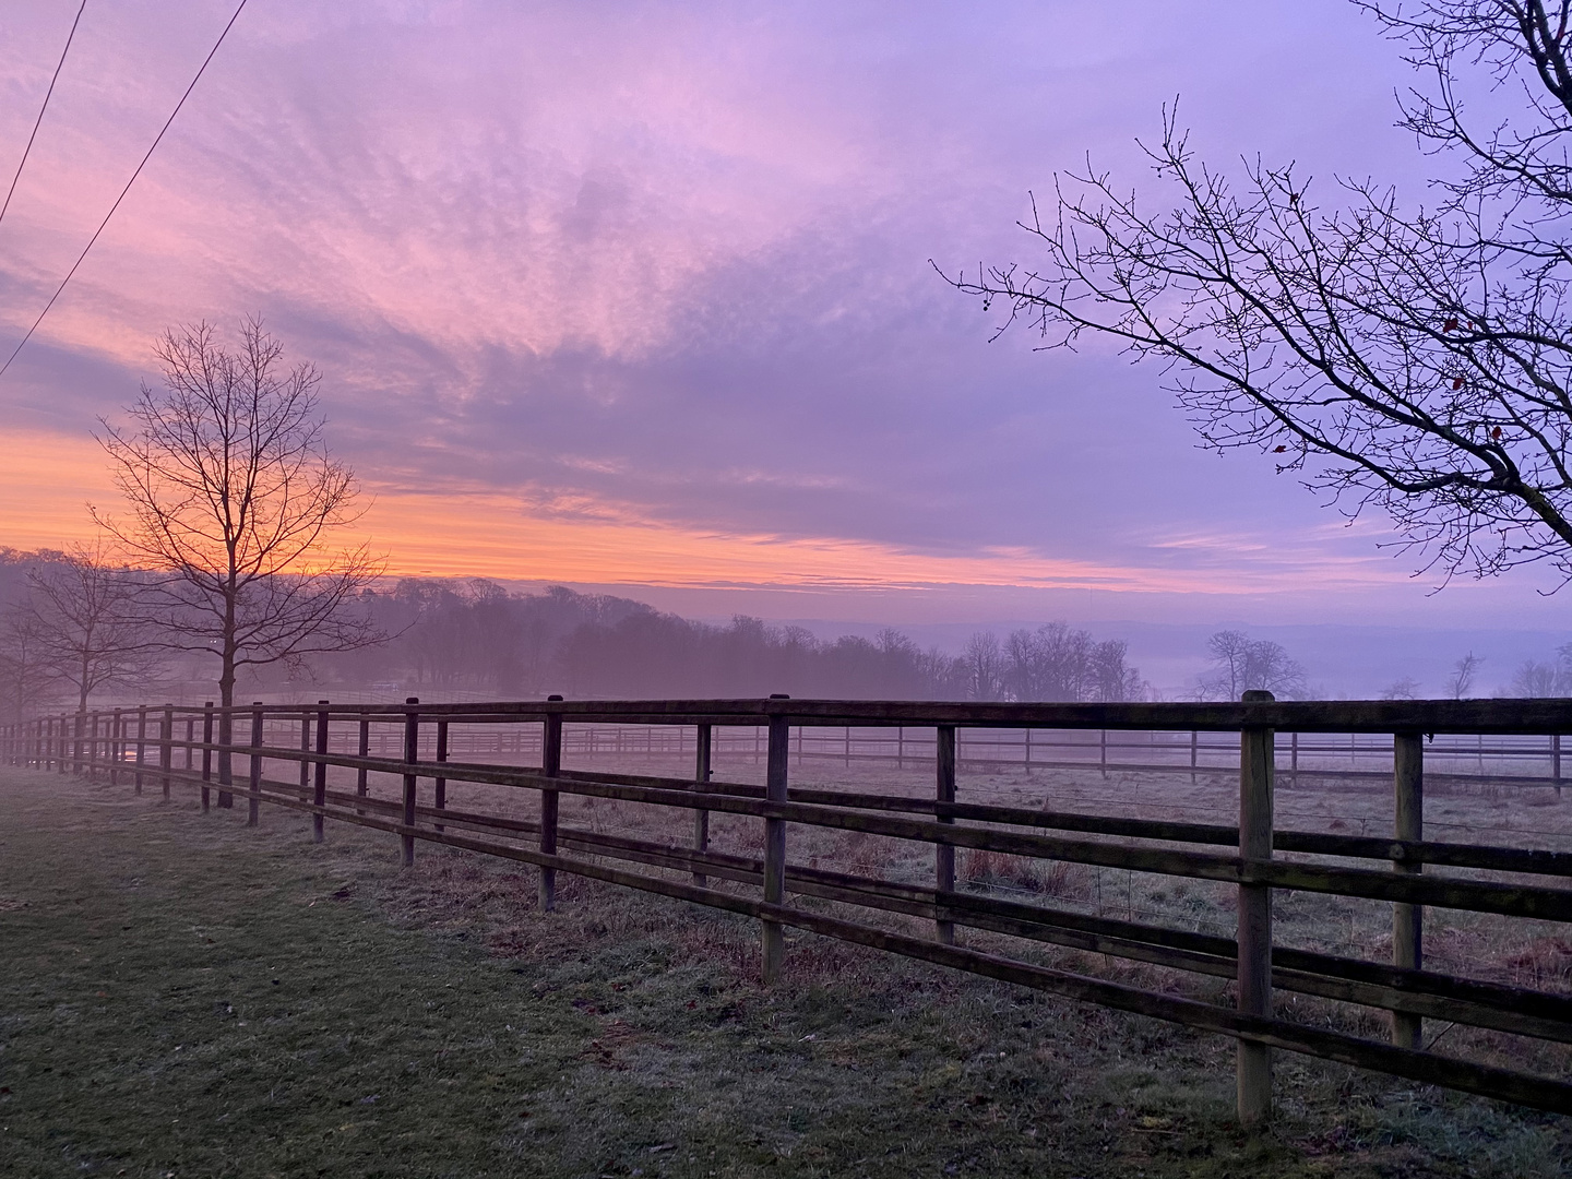
<svg viewBox="0 0 1572 1179"><path fill-rule="evenodd" d="M726 626L641 602L552 586L406 578L363 594L393 638L316 662L324 678L498 696L794 696L880 700L1135 700L1144 682L1119 641L1050 624L967 652L923 649L899 630L821 640L737 616Z"/></svg>

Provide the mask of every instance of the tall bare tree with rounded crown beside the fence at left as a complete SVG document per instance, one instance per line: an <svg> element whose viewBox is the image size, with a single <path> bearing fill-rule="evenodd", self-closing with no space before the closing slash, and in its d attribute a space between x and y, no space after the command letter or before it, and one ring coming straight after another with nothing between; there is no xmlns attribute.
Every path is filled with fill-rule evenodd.
<svg viewBox="0 0 1572 1179"><path fill-rule="evenodd" d="M360 509L352 472L324 440L318 371L286 368L258 319L242 324L236 352L196 324L167 332L156 354L163 388L143 385L129 424L104 421L99 435L129 519L94 509L156 574L143 618L165 646L219 660L225 707L242 668L379 641L357 596L382 564L365 545L329 550ZM223 712L219 740L230 739ZM219 772L228 783L226 753Z"/></svg>

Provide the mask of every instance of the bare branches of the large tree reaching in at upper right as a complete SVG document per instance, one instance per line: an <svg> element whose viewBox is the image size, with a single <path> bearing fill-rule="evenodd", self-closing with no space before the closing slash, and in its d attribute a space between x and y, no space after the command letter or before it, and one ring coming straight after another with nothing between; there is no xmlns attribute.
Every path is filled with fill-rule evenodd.
<svg viewBox="0 0 1572 1179"><path fill-rule="evenodd" d="M1088 165L1023 223L1038 261L951 281L1047 347L1160 362L1206 445L1380 508L1426 569L1572 577L1572 0L1355 2L1423 77L1399 126L1437 157L1434 208L1229 174L1170 108L1146 148L1166 208ZM1470 85L1522 101L1481 126Z"/></svg>

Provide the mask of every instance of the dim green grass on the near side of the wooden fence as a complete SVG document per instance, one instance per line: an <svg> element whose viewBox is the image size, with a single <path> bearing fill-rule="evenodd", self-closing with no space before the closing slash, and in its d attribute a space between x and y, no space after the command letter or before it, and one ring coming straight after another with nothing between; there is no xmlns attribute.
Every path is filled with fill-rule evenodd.
<svg viewBox="0 0 1572 1179"><path fill-rule="evenodd" d="M0 1174L1555 1176L1563 1119L514 865L0 770Z"/></svg>

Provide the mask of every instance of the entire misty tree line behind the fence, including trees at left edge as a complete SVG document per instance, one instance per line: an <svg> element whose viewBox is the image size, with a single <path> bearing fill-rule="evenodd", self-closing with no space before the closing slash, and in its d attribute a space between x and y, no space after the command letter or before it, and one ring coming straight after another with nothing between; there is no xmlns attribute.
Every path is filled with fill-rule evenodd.
<svg viewBox="0 0 1572 1179"><path fill-rule="evenodd" d="M149 575L97 552L0 550L0 711L208 693L192 656L137 607ZM509 593L484 578L404 578L354 601L376 646L253 668L242 692L440 696L841 696L1118 701L1148 693L1118 640L1064 623L971 637L960 656L894 629L821 640L737 616L715 626L564 586Z"/></svg>

